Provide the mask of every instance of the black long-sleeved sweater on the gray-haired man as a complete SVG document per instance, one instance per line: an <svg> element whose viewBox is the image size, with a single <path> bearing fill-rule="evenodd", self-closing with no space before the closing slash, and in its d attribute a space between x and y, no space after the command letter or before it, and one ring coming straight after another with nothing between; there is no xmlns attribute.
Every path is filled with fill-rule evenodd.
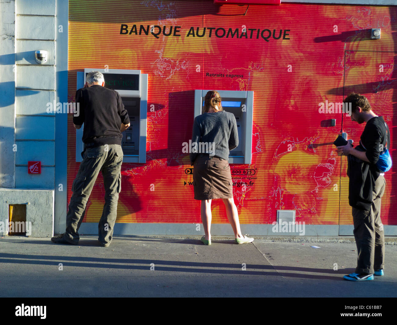
<svg viewBox="0 0 397 325"><path fill-rule="evenodd" d="M123 135L120 125L129 123L120 94L116 90L100 85L80 88L76 92L79 103L79 116L73 116L75 125L82 125L85 147L92 148L104 144L119 144Z"/></svg>

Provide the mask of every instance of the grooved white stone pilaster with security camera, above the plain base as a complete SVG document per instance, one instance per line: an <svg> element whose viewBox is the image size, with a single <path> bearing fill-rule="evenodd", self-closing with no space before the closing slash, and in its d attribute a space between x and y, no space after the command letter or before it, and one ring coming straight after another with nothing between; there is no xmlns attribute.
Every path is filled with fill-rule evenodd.
<svg viewBox="0 0 397 325"><path fill-rule="evenodd" d="M54 188L55 116L46 112L55 98L56 0L15 2L15 187ZM35 60L46 50L47 62ZM41 161L41 175L27 173Z"/></svg>

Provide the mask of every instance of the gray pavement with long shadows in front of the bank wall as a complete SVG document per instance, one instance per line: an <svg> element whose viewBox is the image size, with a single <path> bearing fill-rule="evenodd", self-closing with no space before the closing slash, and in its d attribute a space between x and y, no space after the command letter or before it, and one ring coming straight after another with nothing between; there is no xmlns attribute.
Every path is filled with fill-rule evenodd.
<svg viewBox="0 0 397 325"><path fill-rule="evenodd" d="M211 246L199 238L118 236L104 248L94 236L82 236L79 246L3 237L1 296L397 296L395 237L387 238L385 276L366 282L342 278L357 261L356 244L346 237L256 239L242 245L213 237Z"/></svg>

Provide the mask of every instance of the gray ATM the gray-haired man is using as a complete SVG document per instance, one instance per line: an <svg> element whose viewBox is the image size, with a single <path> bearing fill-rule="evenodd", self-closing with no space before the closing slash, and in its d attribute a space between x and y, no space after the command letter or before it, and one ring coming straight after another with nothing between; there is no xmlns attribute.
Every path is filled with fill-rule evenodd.
<svg viewBox="0 0 397 325"><path fill-rule="evenodd" d="M120 94L124 108L128 112L131 125L122 133L123 162L145 163L148 75L141 73L141 70L84 69L84 72L77 72L77 89L84 87L85 77L91 71L100 71L104 75L105 87L114 89ZM83 160L81 158L84 149L81 140L83 127L76 130L76 162Z"/></svg>

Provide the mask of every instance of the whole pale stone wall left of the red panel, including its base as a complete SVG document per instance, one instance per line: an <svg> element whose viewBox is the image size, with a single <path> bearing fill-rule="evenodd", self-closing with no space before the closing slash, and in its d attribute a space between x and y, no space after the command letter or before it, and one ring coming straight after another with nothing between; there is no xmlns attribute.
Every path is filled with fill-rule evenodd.
<svg viewBox="0 0 397 325"><path fill-rule="evenodd" d="M66 13L67 14L67 13ZM33 237L54 233L56 0L0 0L0 222L27 204ZM46 50L47 62L35 60ZM41 174L28 174L28 161ZM6 235L2 233L0 235Z"/></svg>

